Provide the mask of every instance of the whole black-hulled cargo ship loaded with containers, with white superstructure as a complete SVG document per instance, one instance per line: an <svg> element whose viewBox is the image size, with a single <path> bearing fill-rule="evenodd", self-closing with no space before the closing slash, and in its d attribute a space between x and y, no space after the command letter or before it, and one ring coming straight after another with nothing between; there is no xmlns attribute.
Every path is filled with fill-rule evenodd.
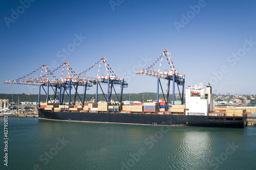
<svg viewBox="0 0 256 170"><path fill-rule="evenodd" d="M84 103L83 105L41 104L39 119L161 126L197 126L244 128L247 123L246 110L226 108L215 110L211 86L203 84L189 86L185 91L185 105L168 107L164 102L123 105L118 103Z"/></svg>

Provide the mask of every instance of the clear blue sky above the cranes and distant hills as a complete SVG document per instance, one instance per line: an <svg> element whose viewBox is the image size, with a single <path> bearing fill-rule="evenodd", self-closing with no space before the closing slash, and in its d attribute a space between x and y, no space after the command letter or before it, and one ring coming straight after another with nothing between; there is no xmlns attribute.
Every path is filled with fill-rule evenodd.
<svg viewBox="0 0 256 170"><path fill-rule="evenodd" d="M101 57L129 84L124 93L156 92L157 79L136 72L167 49L185 88L203 82L214 93L256 94L255 6L252 0L1 1L0 93L38 94L38 86L4 82L65 61L79 74ZM169 70L166 61L162 71ZM87 76L96 77L98 67ZM54 72L58 79L61 71ZM167 81L161 83L166 92Z"/></svg>

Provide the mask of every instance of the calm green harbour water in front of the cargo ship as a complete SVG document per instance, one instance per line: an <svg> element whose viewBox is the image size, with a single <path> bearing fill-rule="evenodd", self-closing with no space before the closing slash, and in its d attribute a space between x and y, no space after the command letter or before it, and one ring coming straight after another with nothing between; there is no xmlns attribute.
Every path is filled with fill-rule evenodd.
<svg viewBox="0 0 256 170"><path fill-rule="evenodd" d="M0 118L0 169L256 169L256 128L201 128Z"/></svg>

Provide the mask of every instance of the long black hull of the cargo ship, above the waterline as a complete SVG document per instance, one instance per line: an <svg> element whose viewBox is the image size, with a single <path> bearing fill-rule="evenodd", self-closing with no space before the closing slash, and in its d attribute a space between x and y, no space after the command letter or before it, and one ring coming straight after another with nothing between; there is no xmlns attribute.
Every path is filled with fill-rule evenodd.
<svg viewBox="0 0 256 170"><path fill-rule="evenodd" d="M244 117L230 117L172 114L51 112L45 111L44 109L38 109L38 118L40 119L166 126L244 128L247 123L246 117L247 115Z"/></svg>

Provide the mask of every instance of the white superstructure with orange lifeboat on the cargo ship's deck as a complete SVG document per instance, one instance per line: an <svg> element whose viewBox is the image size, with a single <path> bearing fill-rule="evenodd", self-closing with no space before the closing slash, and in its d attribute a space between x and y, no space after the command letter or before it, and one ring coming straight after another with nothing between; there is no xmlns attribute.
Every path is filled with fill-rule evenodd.
<svg viewBox="0 0 256 170"><path fill-rule="evenodd" d="M203 83L200 83L199 86L189 86L185 92L186 115L206 116L207 113L214 111L215 105L210 85L206 89L203 87Z"/></svg>

